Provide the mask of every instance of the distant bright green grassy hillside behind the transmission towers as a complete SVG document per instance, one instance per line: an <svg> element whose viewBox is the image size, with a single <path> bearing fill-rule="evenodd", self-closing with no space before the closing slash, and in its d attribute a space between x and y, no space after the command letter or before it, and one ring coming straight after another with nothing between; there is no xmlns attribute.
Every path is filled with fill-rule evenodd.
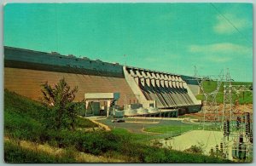
<svg viewBox="0 0 256 166"><path fill-rule="evenodd" d="M242 83L242 82L233 82L232 85L253 85L253 83ZM217 82L215 81L206 81L203 83L203 88L207 93L211 93L217 88ZM203 95L199 94L196 96L198 100L203 99ZM211 98L209 98L211 100ZM218 94L216 97L218 103L223 103L224 101L224 83L221 84L220 89L218 90ZM240 104L249 104L253 103L253 92L244 92L241 94L232 94L232 100L238 100Z"/></svg>

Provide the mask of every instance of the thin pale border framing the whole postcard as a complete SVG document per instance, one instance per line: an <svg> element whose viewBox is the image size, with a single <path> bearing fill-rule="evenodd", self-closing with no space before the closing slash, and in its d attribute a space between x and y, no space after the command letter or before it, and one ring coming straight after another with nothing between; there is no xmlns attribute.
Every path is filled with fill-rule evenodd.
<svg viewBox="0 0 256 166"><path fill-rule="evenodd" d="M194 0L194 1L189 1L189 0L107 0L107 1L103 1L103 0L3 0L0 1L0 55L1 55L1 59L0 59L0 66L2 66L0 68L0 75L2 75L2 77L0 77L0 156L1 156L1 161L0 161L0 165L13 165L11 163L4 163L3 160L3 6L5 3L253 3L253 18L256 18L256 1L255 0ZM253 19L255 20L255 19ZM255 34L255 27L256 27L256 21L253 21L253 40L255 40L256 38L256 34ZM254 54L255 54L255 48L256 45L253 44L253 96L255 94L255 58L254 58ZM253 110L255 110L256 106L254 106L254 103L256 101L256 98L253 97ZM253 115L253 119L255 119L255 114ZM255 129L255 124L253 125L253 132L254 134L256 134L256 129ZM254 135L255 138L255 135ZM253 150L255 150L254 146L253 146ZM247 163L247 165L253 165L255 163L255 158L256 158L256 152L253 152L253 163ZM103 164L103 163L102 163ZM102 164L95 164L95 165L102 165ZM135 163L131 163L132 165L137 165ZM178 163L171 163L172 165L178 165ZM183 164L183 163L182 163ZM187 163L188 164L192 164L192 163ZM239 164L239 163L236 163ZM19 164L19 165L26 165L26 164ZM44 164L38 164L38 165L44 165ZM52 164L48 164L48 165L52 165ZM67 165L74 165L74 164L67 164ZM105 163L104 165L111 165L111 163ZM120 165L120 164L119 164ZM208 165L208 164L202 164L202 165ZM220 163L218 165L225 165L224 163Z"/></svg>

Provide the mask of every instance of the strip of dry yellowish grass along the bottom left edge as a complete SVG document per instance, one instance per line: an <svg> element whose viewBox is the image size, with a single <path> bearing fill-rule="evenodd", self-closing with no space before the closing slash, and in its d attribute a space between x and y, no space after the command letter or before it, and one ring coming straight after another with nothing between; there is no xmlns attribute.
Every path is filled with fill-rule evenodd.
<svg viewBox="0 0 256 166"><path fill-rule="evenodd" d="M74 147L56 148L27 140L5 138L5 161L12 163L121 163L120 159L78 152ZM21 154L20 154L21 153ZM22 157L22 159L20 158Z"/></svg>

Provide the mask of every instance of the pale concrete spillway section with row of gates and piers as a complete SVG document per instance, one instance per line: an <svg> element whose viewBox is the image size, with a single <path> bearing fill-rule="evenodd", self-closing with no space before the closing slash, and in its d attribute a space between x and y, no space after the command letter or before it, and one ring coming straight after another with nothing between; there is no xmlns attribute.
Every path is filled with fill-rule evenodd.
<svg viewBox="0 0 256 166"><path fill-rule="evenodd" d="M181 76L130 66L124 66L123 71L127 83L139 103L143 104L143 108L187 107L189 112L200 111L201 100L196 100Z"/></svg>

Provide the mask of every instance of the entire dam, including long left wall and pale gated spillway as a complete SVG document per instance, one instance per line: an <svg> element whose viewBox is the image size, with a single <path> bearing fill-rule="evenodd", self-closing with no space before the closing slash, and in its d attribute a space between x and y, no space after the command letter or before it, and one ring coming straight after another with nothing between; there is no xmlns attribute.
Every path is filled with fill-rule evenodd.
<svg viewBox="0 0 256 166"><path fill-rule="evenodd" d="M4 47L5 89L40 100L40 85L45 82L54 85L63 77L71 87L79 87L75 101L84 100L84 94L88 93L119 93L115 105L130 111L148 110L143 114L155 109L162 112L201 109L201 100L195 99L198 85L188 76L77 58L72 54ZM99 105L106 103L101 101Z"/></svg>

